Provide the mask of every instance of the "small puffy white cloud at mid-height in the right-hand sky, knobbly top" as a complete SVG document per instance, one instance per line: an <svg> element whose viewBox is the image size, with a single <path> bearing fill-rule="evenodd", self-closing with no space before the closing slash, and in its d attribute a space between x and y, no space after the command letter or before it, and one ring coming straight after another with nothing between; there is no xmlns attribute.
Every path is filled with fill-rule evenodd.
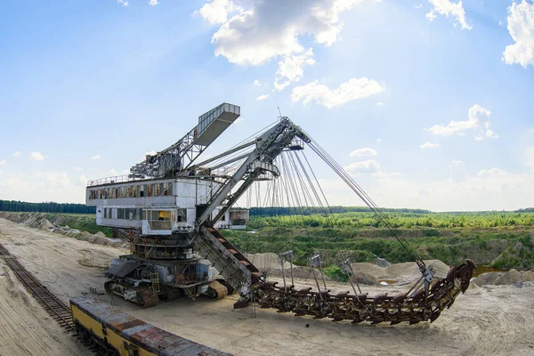
<svg viewBox="0 0 534 356"><path fill-rule="evenodd" d="M498 134L493 130L490 130L490 116L491 112L482 108L480 105L473 105L469 109L466 121L450 121L448 125L433 125L428 128L431 134L439 134L441 136L449 136L451 134L465 134L468 130L479 129L478 133L474 136L475 141L484 141L484 138L496 139ZM483 117L488 117L487 121L481 123ZM483 127L481 127L483 124Z"/></svg>

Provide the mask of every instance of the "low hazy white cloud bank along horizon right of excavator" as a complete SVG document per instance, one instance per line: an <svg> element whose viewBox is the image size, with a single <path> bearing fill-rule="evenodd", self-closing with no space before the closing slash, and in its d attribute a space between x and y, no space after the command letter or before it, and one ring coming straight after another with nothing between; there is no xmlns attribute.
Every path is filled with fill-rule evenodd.
<svg viewBox="0 0 534 356"><path fill-rule="evenodd" d="M430 170L429 170L430 171ZM358 183L378 206L412 207L433 211L513 210L532 206L534 172L521 174L466 175L460 181L448 177L429 181L428 174L377 176L360 174ZM341 179L321 182L331 205L361 204Z"/></svg>

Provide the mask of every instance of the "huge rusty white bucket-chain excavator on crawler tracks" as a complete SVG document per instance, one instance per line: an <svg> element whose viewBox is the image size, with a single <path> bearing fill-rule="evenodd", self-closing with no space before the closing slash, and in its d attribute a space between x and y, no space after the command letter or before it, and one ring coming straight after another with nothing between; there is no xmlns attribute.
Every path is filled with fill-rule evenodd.
<svg viewBox="0 0 534 356"><path fill-rule="evenodd" d="M239 291L234 308L254 302L279 312L335 321L414 324L436 320L469 287L476 268L472 261L453 266L445 278L435 277L433 268L392 229L384 211L350 174L287 117L231 150L197 163L197 158L239 115L239 106L223 103L198 117L198 125L180 141L133 166L131 174L88 183L86 204L96 206L97 223L111 227L117 238L126 239L131 246L131 253L113 260L106 272L110 280L105 287L110 293L148 307L159 299L180 295L217 299ZM336 172L413 257L421 276L409 292L375 296L361 293L360 286L356 290L352 284L348 260L342 271L349 275L352 292L331 295L326 284L324 289L320 287L318 279L317 291L312 287L296 289L286 284L285 277L283 286L279 286L266 280L217 231L217 223L230 221L231 206L255 182L267 182L273 204L286 194L288 204L293 202L293 206L303 206L313 198L328 205L308 159L299 155L305 148ZM288 173L295 181L283 183L280 175ZM299 199L299 195L304 198ZM319 256L310 260L312 271L318 262Z"/></svg>

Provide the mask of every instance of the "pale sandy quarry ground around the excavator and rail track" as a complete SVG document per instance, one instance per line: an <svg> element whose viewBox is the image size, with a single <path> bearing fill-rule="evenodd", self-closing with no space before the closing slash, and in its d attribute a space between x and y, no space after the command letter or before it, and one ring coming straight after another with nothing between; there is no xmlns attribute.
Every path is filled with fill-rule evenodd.
<svg viewBox="0 0 534 356"><path fill-rule="evenodd" d="M0 243L65 303L106 280L102 266L126 253L0 219ZM313 286L298 279L296 285ZM348 290L328 283L332 290ZM363 286L369 294L392 287ZM111 295L100 295L111 301ZM160 303L149 309L114 298L125 312L158 328L236 355L534 355L534 283L472 286L433 324L368 324L233 310L237 296ZM306 328L309 324L309 328ZM0 355L90 355L61 331L0 260Z"/></svg>

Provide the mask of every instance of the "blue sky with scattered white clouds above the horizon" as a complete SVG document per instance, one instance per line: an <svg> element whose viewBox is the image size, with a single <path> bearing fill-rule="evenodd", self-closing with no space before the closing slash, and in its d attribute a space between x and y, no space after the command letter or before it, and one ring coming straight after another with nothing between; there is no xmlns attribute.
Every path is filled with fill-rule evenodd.
<svg viewBox="0 0 534 356"><path fill-rule="evenodd" d="M279 107L380 206L534 202L530 0L21 0L0 53L0 198L83 202L228 101L211 153Z"/></svg>

